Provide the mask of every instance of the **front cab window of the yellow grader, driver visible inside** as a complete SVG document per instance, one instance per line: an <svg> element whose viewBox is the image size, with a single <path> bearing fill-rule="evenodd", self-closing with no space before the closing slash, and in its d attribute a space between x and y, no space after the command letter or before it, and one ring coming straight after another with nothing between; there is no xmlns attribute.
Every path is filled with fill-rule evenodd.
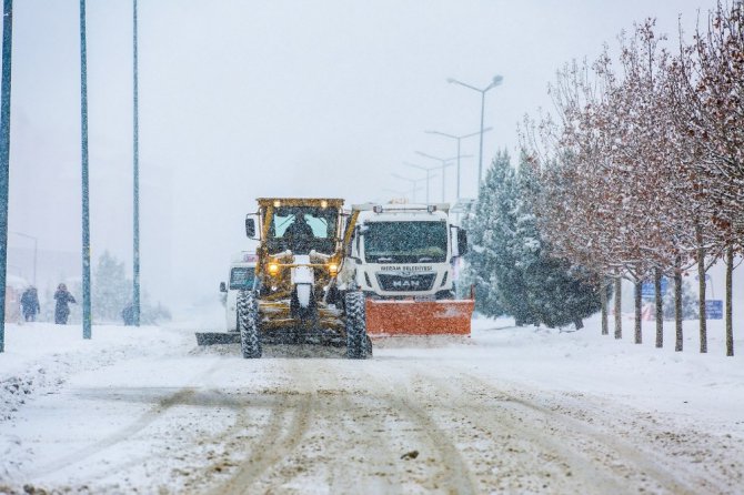
<svg viewBox="0 0 744 495"><path fill-rule="evenodd" d="M332 253L335 246L339 212L334 209L282 206L274 210L269 229L271 253L291 250L308 254L311 250Z"/></svg>

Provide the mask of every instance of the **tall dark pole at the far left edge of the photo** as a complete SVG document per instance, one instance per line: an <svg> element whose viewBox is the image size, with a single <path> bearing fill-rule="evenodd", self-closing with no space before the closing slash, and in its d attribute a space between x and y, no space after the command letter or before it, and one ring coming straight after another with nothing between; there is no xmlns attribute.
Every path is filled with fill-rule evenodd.
<svg viewBox="0 0 744 495"><path fill-rule="evenodd" d="M13 1L2 3L2 95L0 95L0 352L6 352L6 279L8 276L8 185L10 179L10 62Z"/></svg>

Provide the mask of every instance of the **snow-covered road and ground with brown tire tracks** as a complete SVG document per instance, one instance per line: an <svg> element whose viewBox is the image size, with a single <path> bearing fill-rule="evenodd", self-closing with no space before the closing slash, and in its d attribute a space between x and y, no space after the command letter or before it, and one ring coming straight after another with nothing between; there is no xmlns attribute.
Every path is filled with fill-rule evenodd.
<svg viewBox="0 0 744 495"><path fill-rule="evenodd" d="M475 320L374 358L7 325L0 493L742 493L744 358ZM742 322L735 330L742 331ZM736 341L744 355L744 340Z"/></svg>

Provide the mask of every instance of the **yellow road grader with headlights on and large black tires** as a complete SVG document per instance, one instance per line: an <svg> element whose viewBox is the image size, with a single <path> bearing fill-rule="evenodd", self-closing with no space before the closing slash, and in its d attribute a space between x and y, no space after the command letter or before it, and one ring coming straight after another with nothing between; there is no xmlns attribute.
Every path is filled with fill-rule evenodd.
<svg viewBox="0 0 744 495"><path fill-rule="evenodd" d="M345 346L350 358L371 356L364 294L334 283L344 255L343 200L258 203L245 219L247 235L259 240L255 283L237 302L243 357L261 357L263 343Z"/></svg>

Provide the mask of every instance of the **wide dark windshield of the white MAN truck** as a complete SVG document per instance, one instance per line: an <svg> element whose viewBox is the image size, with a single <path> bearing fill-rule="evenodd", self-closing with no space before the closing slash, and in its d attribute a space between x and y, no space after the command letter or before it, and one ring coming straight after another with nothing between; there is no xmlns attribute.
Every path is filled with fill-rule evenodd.
<svg viewBox="0 0 744 495"><path fill-rule="evenodd" d="M372 222L364 231L368 263L443 263L446 222Z"/></svg>

